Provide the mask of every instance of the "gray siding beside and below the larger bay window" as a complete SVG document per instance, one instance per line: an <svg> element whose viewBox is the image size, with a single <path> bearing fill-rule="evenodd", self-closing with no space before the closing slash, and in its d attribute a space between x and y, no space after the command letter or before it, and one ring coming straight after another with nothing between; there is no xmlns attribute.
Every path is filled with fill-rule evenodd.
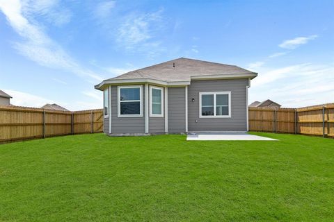
<svg viewBox="0 0 334 222"><path fill-rule="evenodd" d="M118 89L111 87L111 133L145 133L145 85L143 85L143 117L118 117Z"/></svg>

